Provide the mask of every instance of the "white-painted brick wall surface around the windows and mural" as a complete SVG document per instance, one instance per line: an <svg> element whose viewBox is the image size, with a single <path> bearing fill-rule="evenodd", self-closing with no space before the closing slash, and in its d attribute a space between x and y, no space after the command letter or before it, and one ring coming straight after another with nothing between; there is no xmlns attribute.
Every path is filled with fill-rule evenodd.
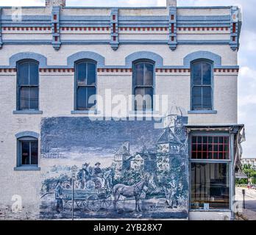
<svg viewBox="0 0 256 235"><path fill-rule="evenodd" d="M8 10L4 10L6 13ZM10 10L9 10L10 11ZM24 10L26 14L35 15L48 12L46 9ZM62 10L68 15L91 15L93 10ZM228 14L228 10L178 10L183 15ZM8 12L7 12L8 13ZM95 10L94 15L110 14L109 10ZM121 10L121 15L152 15L153 10ZM156 12L154 12L155 14ZM166 10L157 10L157 14L166 15ZM183 58L193 51L211 51L222 58L223 65L237 65L237 52L230 46L178 46L171 51L168 45L121 45L117 51L110 46L61 46L55 51L49 46L10 46L4 45L0 51L1 65L9 65L9 58L19 52L35 52L43 54L48 59L48 65L66 65L67 57L79 51L94 51L105 57L106 65L125 65L125 57L136 51L152 51L163 57L164 65L182 65ZM214 108L216 115L189 115L191 124L217 124L237 123L237 76L215 76ZM131 93L132 75L126 76L98 76L98 92L104 96L106 88L113 88L114 94L128 96ZM185 110L190 108L190 76L157 76L156 93L169 95L171 105L182 106ZM40 172L14 171L16 166L16 140L15 134L21 131L35 131L40 133L41 117L74 116L74 75L41 75L40 76L40 109L43 115L13 115L16 105L16 77L15 75L0 75L0 210L11 206L13 195L21 195L26 211L39 211ZM79 115L81 116L81 115ZM3 167L4 166L4 167ZM40 166L40 164L39 164ZM10 211L7 210L7 211ZM1 213L1 212L0 212ZM26 213L25 213L26 214ZM37 215L29 214L36 218ZM11 215L12 216L12 215ZM194 215L196 218L196 214ZM13 215L14 217L14 215ZM25 215L23 215L25 217ZM193 218L193 217L192 217Z"/></svg>

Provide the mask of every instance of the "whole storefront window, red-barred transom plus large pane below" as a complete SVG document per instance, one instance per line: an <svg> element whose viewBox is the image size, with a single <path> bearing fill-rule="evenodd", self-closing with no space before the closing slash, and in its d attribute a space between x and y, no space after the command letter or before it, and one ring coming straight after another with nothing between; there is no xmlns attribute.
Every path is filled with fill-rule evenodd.
<svg viewBox="0 0 256 235"><path fill-rule="evenodd" d="M230 209L230 137L191 137L191 209Z"/></svg>

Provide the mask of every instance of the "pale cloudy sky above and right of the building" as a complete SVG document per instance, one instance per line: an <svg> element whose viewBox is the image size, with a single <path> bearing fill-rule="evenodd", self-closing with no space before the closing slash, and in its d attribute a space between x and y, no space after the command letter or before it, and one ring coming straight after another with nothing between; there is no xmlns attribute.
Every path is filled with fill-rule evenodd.
<svg viewBox="0 0 256 235"><path fill-rule="evenodd" d="M0 0L1 6L43 6L45 0ZM67 6L164 7L166 0L66 0ZM238 6L243 12L238 64L238 123L246 125L243 157L256 157L256 14L255 0L177 0L178 6Z"/></svg>

